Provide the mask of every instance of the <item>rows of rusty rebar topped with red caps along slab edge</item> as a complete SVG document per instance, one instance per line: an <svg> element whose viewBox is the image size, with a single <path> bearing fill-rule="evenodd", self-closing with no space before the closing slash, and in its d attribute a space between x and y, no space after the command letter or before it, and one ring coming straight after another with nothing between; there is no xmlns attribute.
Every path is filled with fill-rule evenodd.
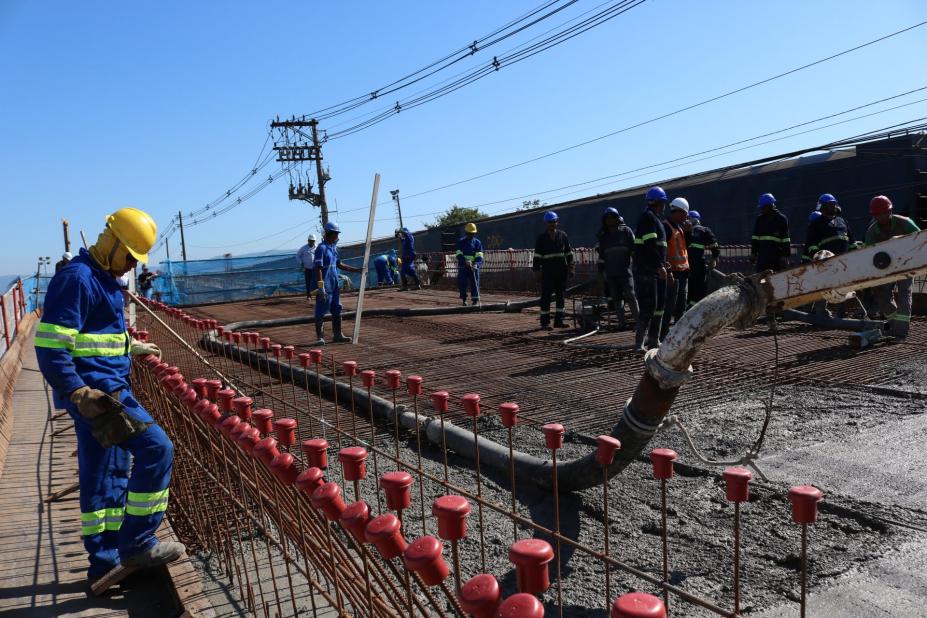
<svg viewBox="0 0 927 618"><path fill-rule="evenodd" d="M630 557L614 547L623 544L621 536L610 540L622 534L629 516L616 509L622 503L614 495L609 498L607 469L621 449L615 438L599 436L588 447L602 467L601 502L597 515L584 519L581 540L561 527L562 425L526 427L514 402L481 409L478 394L452 397L426 389L421 376L399 370L377 375L327 350L297 354L256 332L232 332L214 320L152 307L156 313L139 320L146 330L134 334L157 342L163 357L136 362L133 381L174 441L168 516L215 565L242 613L317 616L335 608L357 616L530 617L544 616L546 605L548 615L598 607L634 616L620 613L630 601L615 597L643 588L660 597L635 597L652 604L648 616L670 609L684 614L692 605L740 615L740 515L750 493L748 470L729 468L723 488L717 486L731 504L732 586L725 599L708 599L671 583L667 515L675 452L650 453L653 498L660 504L651 553L662 559ZM413 425L400 422L410 414ZM477 445L486 439L481 424L490 419L493 435L508 450L508 473L481 469ZM423 425L429 438L440 428L441 447L428 444ZM466 454L472 459L466 448L448 448L454 427L472 427L473 451ZM552 519L535 517L523 504L525 487L536 479L516 477L516 450L551 458L551 489L541 500L552 505ZM821 497L808 486L789 491L792 520L801 526L796 586L802 606L808 525ZM583 568L564 569L564 555ZM590 590L599 600L589 601ZM503 600L506 591L512 594Z"/></svg>

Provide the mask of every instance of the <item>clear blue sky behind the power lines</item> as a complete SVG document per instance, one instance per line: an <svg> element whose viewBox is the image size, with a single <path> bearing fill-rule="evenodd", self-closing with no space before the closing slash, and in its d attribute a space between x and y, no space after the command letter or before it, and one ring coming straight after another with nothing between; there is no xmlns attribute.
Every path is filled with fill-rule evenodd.
<svg viewBox="0 0 927 618"><path fill-rule="evenodd" d="M77 230L93 242L105 214L127 205L165 226L178 210L202 207L250 169L273 116L308 113L369 92L540 4L4 0L0 273L34 271L39 255L57 259L62 217L71 221L76 243ZM562 17L459 66L488 62L597 4L580 0ZM381 201L388 202L389 189L411 195L516 163L925 19L927 4L919 0L649 0L468 88L330 142L324 150L333 178L329 202L337 201L343 242L358 240L376 171L383 177ZM614 174L925 86L925 57L927 27L921 27L645 128L404 199L406 224L420 228L451 204L494 202ZM893 104L925 97L927 91ZM563 197L567 191L539 197L555 202L657 181L920 116L927 116L927 103ZM275 163L267 171L277 169ZM519 203L484 210L499 213ZM393 207L385 203L378 214L376 234L389 233L396 226ZM316 216L307 204L287 200L281 179L230 213L189 229L189 257L297 247L317 227ZM179 235L171 251L179 255ZM154 257L162 259L163 250Z"/></svg>

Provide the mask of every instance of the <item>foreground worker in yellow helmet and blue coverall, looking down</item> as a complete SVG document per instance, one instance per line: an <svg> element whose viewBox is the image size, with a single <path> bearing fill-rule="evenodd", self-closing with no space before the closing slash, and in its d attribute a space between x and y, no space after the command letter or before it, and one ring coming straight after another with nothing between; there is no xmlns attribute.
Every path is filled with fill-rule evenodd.
<svg viewBox="0 0 927 618"><path fill-rule="evenodd" d="M170 439L132 395L130 355L157 354L126 332L118 277L148 261L157 227L135 208L106 220L96 244L51 280L36 328L39 369L77 433L81 536L90 583L122 564L176 560L184 546L158 541L170 493Z"/></svg>

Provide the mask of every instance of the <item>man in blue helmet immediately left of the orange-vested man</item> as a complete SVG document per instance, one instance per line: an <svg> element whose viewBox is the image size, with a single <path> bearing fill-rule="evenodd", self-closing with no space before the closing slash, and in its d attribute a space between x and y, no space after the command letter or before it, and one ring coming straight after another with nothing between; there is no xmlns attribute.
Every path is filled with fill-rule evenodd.
<svg viewBox="0 0 927 618"><path fill-rule="evenodd" d="M666 268L666 228L661 220L666 208L666 191L651 187L644 199L647 208L637 220L634 231L634 288L640 305L634 349L638 352L660 346L666 280L670 276Z"/></svg>

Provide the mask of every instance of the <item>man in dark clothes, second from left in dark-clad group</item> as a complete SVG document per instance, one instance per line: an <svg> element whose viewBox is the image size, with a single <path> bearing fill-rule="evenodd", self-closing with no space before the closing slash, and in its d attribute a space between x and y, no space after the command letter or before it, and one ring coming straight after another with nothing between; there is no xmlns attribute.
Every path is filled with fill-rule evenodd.
<svg viewBox="0 0 927 618"><path fill-rule="evenodd" d="M618 314L618 326L623 328L625 303L632 319L636 321L638 315L634 280L631 278L634 232L624 224L624 218L615 208L606 208L602 213L598 241L596 251L599 254L599 278L608 296L609 308Z"/></svg>

